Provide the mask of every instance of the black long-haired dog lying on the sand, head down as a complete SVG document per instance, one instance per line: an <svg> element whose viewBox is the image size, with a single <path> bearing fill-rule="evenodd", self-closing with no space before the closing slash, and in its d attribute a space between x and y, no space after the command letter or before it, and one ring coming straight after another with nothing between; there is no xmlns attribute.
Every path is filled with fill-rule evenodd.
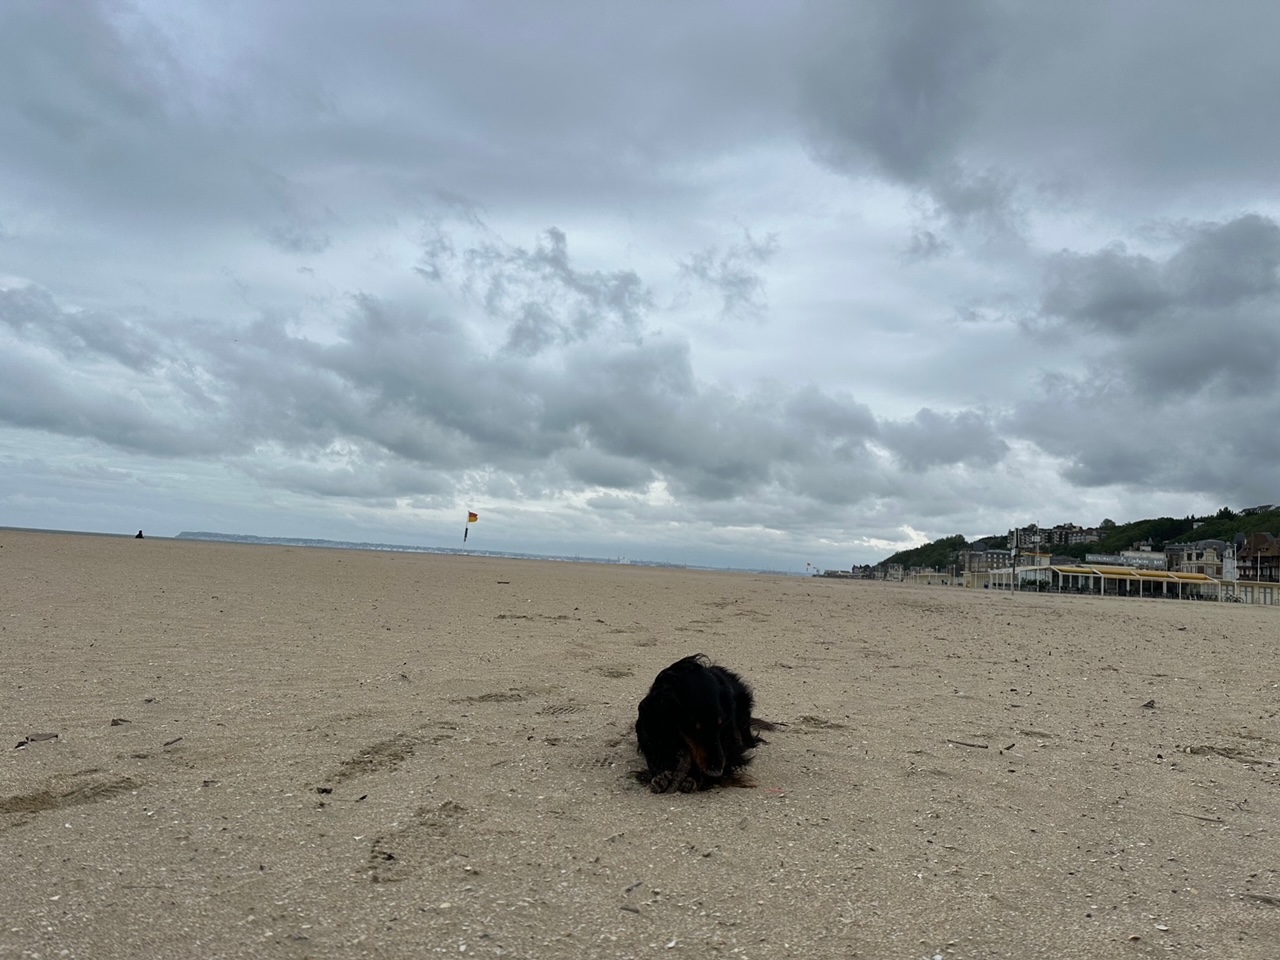
<svg viewBox="0 0 1280 960"><path fill-rule="evenodd" d="M741 783L748 750L764 742L755 730L773 728L751 718L754 707L751 687L733 671L703 654L676 660L640 701L636 741L649 764L641 781L655 794Z"/></svg>

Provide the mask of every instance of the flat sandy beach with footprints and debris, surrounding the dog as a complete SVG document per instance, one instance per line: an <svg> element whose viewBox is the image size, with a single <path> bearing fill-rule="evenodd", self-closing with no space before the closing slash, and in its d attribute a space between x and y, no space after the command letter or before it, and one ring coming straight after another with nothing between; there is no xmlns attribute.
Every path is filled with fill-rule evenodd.
<svg viewBox="0 0 1280 960"><path fill-rule="evenodd" d="M1274 959L1277 640L1274 607L0 531L0 957ZM755 786L653 795L636 704L698 652L785 726Z"/></svg>

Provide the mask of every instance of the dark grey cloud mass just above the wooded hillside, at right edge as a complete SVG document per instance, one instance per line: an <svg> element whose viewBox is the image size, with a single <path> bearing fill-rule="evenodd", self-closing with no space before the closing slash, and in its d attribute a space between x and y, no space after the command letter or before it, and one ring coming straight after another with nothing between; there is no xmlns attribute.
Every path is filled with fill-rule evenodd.
<svg viewBox="0 0 1280 960"><path fill-rule="evenodd" d="M1183 225L1166 256L1121 246L1050 259L1041 321L1078 339L1085 372L1051 375L1015 429L1066 479L1265 498L1280 415L1280 227Z"/></svg>

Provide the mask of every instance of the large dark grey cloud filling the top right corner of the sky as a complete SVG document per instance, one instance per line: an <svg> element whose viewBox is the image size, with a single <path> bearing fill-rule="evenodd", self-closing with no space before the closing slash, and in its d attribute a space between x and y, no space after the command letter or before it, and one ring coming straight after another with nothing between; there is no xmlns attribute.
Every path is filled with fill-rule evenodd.
<svg viewBox="0 0 1280 960"><path fill-rule="evenodd" d="M919 191L932 229L1001 236L1032 206L1138 211L1225 182L1276 196L1276 9L820 9L801 97L818 156Z"/></svg>

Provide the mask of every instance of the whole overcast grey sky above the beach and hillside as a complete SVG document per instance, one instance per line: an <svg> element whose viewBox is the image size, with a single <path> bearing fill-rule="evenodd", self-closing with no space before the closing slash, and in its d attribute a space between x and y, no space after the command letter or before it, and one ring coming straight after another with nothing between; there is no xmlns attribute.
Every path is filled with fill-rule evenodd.
<svg viewBox="0 0 1280 960"><path fill-rule="evenodd" d="M1280 500L1280 5L0 5L0 525L803 570Z"/></svg>

